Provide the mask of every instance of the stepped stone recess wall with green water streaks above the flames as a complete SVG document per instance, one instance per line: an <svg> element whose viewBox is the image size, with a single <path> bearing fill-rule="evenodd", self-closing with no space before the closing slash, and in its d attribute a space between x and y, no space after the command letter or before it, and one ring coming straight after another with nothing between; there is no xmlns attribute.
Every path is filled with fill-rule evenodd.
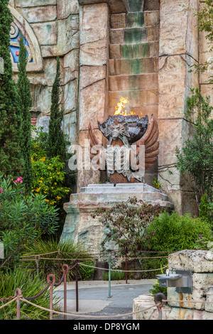
<svg viewBox="0 0 213 334"><path fill-rule="evenodd" d="M128 97L131 112L158 118L160 4L129 0L128 7L126 13L110 15L108 113ZM157 163L146 173L148 183L156 171Z"/></svg>

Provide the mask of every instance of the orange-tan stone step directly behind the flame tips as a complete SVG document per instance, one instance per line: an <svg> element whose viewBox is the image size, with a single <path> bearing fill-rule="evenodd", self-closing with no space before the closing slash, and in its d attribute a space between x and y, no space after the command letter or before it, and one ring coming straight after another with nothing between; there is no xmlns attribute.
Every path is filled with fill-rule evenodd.
<svg viewBox="0 0 213 334"><path fill-rule="evenodd" d="M115 107L121 97L128 97L135 107L158 104L158 90L128 90L109 92L109 107Z"/></svg>

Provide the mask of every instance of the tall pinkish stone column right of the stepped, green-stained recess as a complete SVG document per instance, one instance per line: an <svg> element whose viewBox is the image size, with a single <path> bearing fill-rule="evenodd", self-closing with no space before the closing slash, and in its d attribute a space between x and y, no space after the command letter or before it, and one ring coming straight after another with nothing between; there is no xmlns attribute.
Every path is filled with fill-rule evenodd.
<svg viewBox="0 0 213 334"><path fill-rule="evenodd" d="M189 72L190 66L199 59L197 18L194 16L198 2L160 1L158 178L179 213L195 213L195 203L192 203L185 181L173 165L176 146L182 149L191 130L184 117L186 99L191 87L199 87L198 75Z"/></svg>

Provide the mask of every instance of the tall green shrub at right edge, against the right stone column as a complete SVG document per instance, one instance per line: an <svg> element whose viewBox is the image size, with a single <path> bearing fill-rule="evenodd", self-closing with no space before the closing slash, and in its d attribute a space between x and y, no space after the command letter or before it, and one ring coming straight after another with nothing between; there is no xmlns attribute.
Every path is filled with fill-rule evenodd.
<svg viewBox="0 0 213 334"><path fill-rule="evenodd" d="M192 137L185 141L185 146L176 149L176 167L180 173L189 176L190 188L195 194L197 205L204 193L209 201L213 198L213 107L209 97L202 97L199 90L192 90L192 97L187 98L185 116L194 124Z"/></svg>

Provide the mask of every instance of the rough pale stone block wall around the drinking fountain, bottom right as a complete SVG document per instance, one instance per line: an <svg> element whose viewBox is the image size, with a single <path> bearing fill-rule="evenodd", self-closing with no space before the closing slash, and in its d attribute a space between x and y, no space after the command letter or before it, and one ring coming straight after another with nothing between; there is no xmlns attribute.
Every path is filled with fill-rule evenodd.
<svg viewBox="0 0 213 334"><path fill-rule="evenodd" d="M168 307L163 307L167 320L212 320L213 319L213 254L209 251L184 250L168 257L168 268L192 271L192 293L177 292L168 288ZM212 303L211 303L212 302ZM154 305L153 297L139 296L133 301L133 311ZM134 319L153 320L155 308L136 314Z"/></svg>

